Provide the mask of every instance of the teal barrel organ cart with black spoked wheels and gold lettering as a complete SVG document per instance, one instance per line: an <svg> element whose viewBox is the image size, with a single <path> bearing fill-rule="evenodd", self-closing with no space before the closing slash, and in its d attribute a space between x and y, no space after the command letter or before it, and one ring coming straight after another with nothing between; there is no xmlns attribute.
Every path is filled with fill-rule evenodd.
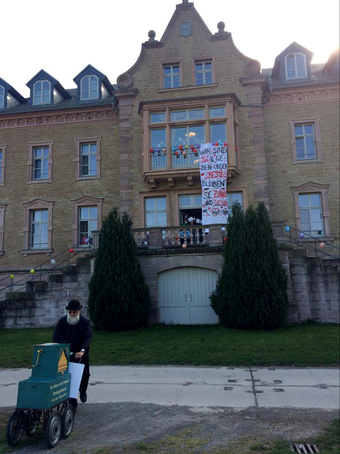
<svg viewBox="0 0 340 454"><path fill-rule="evenodd" d="M71 375L68 372L70 344L34 345L32 375L19 382L17 407L6 428L9 446L23 434L33 436L39 425L45 441L54 448L61 436L73 429L75 409L69 403Z"/></svg>

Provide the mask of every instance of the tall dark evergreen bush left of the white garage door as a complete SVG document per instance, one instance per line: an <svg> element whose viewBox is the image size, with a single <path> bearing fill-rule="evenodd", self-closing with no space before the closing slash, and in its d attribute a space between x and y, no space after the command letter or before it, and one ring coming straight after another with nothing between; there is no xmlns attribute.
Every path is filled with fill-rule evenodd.
<svg viewBox="0 0 340 454"><path fill-rule="evenodd" d="M102 223L88 309L94 325L105 331L148 324L151 300L137 259L132 221L115 208Z"/></svg>

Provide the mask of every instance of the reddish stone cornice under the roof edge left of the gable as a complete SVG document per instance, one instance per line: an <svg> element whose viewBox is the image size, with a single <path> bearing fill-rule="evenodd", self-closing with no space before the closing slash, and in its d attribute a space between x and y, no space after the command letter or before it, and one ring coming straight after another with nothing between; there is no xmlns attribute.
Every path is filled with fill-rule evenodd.
<svg viewBox="0 0 340 454"><path fill-rule="evenodd" d="M0 130L23 127L69 125L74 123L92 123L98 121L118 120L116 110L108 109L72 109L17 113L0 116Z"/></svg>

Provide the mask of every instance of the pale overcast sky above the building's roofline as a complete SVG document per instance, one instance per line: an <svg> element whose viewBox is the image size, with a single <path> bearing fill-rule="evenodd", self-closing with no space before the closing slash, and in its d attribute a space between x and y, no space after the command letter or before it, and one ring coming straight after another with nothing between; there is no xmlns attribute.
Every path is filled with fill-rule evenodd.
<svg viewBox="0 0 340 454"><path fill-rule="evenodd" d="M64 88L88 63L116 83L140 53L149 30L160 39L181 0L1 1L0 77L23 96L41 68ZM339 47L339 0L195 0L212 33L217 23L233 34L238 49L262 68L292 41L323 63Z"/></svg>

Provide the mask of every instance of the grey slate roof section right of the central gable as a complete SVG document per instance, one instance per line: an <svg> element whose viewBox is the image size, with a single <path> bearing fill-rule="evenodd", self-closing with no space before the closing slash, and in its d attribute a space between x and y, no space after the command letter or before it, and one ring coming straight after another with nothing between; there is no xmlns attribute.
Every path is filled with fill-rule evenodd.
<svg viewBox="0 0 340 454"><path fill-rule="evenodd" d="M330 84L339 82L339 73L326 75L323 72L324 63L314 63L310 65L311 78L287 80L272 78L272 68L262 69L262 74L268 76L268 86L270 89L287 87L306 87L307 85Z"/></svg>

